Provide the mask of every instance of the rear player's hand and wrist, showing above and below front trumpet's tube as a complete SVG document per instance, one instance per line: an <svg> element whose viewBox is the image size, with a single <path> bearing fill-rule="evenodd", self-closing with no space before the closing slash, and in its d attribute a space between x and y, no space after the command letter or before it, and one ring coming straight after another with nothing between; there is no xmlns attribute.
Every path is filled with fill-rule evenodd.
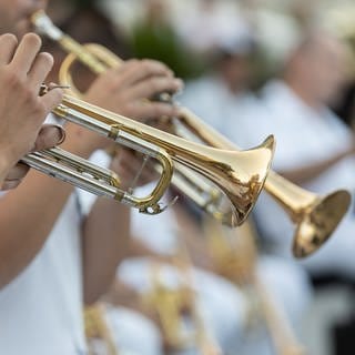
<svg viewBox="0 0 355 355"><path fill-rule="evenodd" d="M118 69L101 74L84 100L132 119L174 116L179 109L169 103L149 101L156 93L175 92L182 82L164 64L152 60L130 60ZM88 158L98 149L108 149L112 141L77 124L65 125L64 149Z"/></svg>

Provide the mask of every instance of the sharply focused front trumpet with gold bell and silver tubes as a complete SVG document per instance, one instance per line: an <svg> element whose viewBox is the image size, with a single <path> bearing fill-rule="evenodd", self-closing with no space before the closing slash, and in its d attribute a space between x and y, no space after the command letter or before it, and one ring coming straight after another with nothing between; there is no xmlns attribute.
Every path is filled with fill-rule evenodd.
<svg viewBox="0 0 355 355"><path fill-rule="evenodd" d="M84 160L58 148L28 154L23 162L43 173L71 182L98 195L112 197L146 214L163 211L159 201L170 185L174 170L173 161L176 161L200 173L223 191L234 211L233 223L239 225L255 203L255 190L261 189L273 154L272 138L264 146L245 152L219 150L186 141L68 94L53 113L158 160L162 173L156 186L150 195L136 197L120 189L119 179L112 172L97 171L95 165L88 164ZM260 170L251 171L247 166L248 160L260 158ZM255 180L260 182L256 186L253 183Z"/></svg>

